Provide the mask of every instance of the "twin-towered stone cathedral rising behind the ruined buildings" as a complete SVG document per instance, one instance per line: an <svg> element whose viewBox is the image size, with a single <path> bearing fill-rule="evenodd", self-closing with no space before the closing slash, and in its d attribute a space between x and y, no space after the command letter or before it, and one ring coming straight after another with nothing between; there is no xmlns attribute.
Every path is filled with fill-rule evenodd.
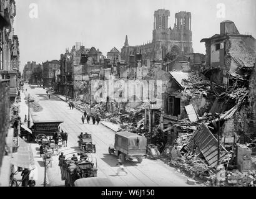
<svg viewBox="0 0 256 199"><path fill-rule="evenodd" d="M173 29L168 27L170 11L159 9L154 13L153 39L149 44L129 46L128 37L121 49L121 60L129 63L129 55L140 53L143 59L163 60L167 53L176 55L193 53L191 13L175 14Z"/></svg>

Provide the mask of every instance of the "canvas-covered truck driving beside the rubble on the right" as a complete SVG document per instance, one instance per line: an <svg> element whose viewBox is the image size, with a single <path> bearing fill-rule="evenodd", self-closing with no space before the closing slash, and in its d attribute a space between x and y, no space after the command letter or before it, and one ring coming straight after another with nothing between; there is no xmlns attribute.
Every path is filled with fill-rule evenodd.
<svg viewBox="0 0 256 199"><path fill-rule="evenodd" d="M115 154L124 162L125 160L137 159L140 163L146 154L147 139L138 134L121 131L115 135L115 144L109 146L109 154Z"/></svg>

